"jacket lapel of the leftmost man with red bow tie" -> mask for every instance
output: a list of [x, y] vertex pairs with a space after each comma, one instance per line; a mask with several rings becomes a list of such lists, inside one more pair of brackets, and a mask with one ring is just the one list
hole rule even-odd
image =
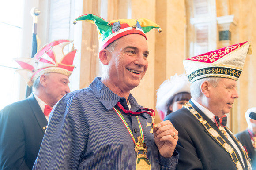
[[45, 133], [46, 126], [48, 124], [47, 119], [45, 118], [44, 113], [42, 112], [40, 106], [38, 105], [37, 100], [34, 98], [33, 93], [27, 98], [31, 109], [33, 110], [34, 116], [37, 120], [38, 126]]

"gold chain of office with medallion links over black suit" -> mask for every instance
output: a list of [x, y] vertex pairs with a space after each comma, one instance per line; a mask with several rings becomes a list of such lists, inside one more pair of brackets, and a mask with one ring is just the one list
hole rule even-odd
[[[237, 158], [236, 152], [234, 152], [233, 148], [221, 137], [221, 135], [218, 134], [218, 132], [214, 130], [211, 127], [211, 125], [207, 123], [206, 120], [203, 119], [203, 117], [199, 114], [199, 112], [197, 112], [196, 109], [194, 109], [194, 107], [189, 102], [184, 105], [184, 108], [188, 109], [196, 117], [196, 119], [203, 124], [204, 128], [208, 131], [208, 133], [211, 134], [211, 136], [214, 137], [216, 141], [218, 141], [218, 143], [226, 150], [226, 152], [229, 153], [231, 159], [233, 160], [233, 163], [237, 167], [237, 170], [243, 170], [243, 167], [241, 166], [241, 163]], [[234, 135], [233, 135], [233, 138], [237, 141], [237, 143], [239, 144], [239, 147], [241, 147], [241, 143], [237, 140], [237, 138]], [[241, 150], [243, 151], [243, 154], [246, 158], [248, 170], [252, 170], [250, 159], [248, 157], [247, 152], [245, 152], [243, 148], [241, 148]], [[234, 157], [236, 160], [234, 159]]]

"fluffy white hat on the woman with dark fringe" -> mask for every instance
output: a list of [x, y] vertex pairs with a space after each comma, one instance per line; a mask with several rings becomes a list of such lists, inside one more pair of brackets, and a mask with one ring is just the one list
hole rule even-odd
[[156, 109], [162, 120], [167, 114], [167, 102], [169, 99], [181, 92], [190, 93], [190, 85], [191, 83], [188, 81], [186, 74], [175, 74], [160, 85], [157, 90]]

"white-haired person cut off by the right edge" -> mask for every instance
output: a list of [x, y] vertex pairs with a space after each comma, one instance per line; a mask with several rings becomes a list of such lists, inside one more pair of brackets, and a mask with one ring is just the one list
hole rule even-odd
[[256, 120], [250, 118], [250, 113], [256, 117], [256, 107], [250, 108], [245, 112], [245, 119], [248, 124], [248, 128], [242, 132], [235, 134], [237, 139], [246, 148], [248, 156], [252, 159], [252, 165], [256, 167]]

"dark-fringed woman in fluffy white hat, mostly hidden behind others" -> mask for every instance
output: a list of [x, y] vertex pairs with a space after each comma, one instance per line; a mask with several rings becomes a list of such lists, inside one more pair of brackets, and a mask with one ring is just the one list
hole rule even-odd
[[156, 109], [161, 120], [181, 109], [190, 100], [190, 84], [186, 74], [175, 74], [160, 85], [157, 90]]

